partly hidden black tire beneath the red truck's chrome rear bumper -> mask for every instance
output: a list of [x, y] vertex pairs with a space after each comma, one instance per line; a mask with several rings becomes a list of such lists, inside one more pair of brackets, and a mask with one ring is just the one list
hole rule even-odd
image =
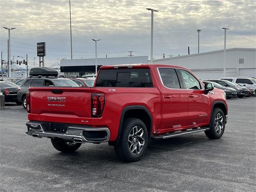
[[[76, 151], [82, 143], [73, 143], [70, 141], [63, 140], [61, 138], [51, 138], [52, 145], [54, 148], [63, 153], [72, 153]], [[72, 143], [72, 144], [68, 144]]]

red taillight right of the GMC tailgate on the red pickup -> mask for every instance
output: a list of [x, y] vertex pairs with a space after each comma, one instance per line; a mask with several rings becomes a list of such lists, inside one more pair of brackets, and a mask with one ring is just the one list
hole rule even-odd
[[92, 93], [92, 117], [100, 117], [105, 104], [105, 96], [102, 93]]

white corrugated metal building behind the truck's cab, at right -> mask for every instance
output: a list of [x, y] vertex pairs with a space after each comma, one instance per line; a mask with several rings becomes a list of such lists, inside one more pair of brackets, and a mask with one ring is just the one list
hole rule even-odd
[[[156, 59], [153, 63], [184, 66], [202, 80], [224, 77], [224, 50]], [[226, 77], [256, 77], [256, 49], [226, 49]]]

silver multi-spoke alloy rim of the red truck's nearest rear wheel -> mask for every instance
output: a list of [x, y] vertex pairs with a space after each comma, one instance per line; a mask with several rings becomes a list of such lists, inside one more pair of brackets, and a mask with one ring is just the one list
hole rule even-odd
[[134, 155], [140, 154], [144, 144], [144, 131], [141, 127], [135, 126], [134, 128], [132, 128], [128, 136], [128, 147], [130, 152]]

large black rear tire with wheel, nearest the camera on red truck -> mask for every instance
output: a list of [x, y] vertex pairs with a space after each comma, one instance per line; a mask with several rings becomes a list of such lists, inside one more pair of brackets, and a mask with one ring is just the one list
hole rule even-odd
[[[136, 136], [136, 134], [133, 134], [133, 136], [129, 137], [129, 135], [132, 135], [130, 134], [130, 132], [132, 133], [133, 130], [136, 130], [136, 126], [137, 126], [137, 129], [139, 130], [137, 133], [141, 134], [143, 131], [142, 137], [138, 135]], [[134, 141], [135, 144], [132, 144], [132, 142], [128, 142], [128, 139]], [[141, 151], [139, 146], [140, 144], [143, 144]], [[148, 146], [148, 131], [144, 122], [137, 118], [125, 119], [122, 126], [122, 134], [121, 134], [120, 142], [114, 146], [115, 152], [118, 158], [126, 162], [138, 161], [145, 154], [147, 146]], [[133, 149], [135, 149], [136, 152], [135, 151], [131, 152]]]

